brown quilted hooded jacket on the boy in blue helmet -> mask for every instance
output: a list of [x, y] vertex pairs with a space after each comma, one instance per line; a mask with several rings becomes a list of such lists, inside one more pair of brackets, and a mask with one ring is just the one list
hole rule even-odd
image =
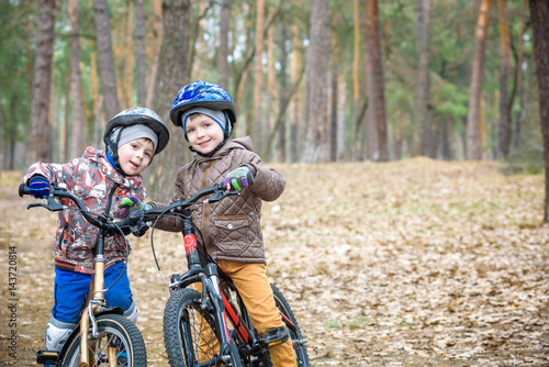
[[[229, 171], [244, 165], [254, 174], [255, 184], [244, 189], [240, 196], [193, 207], [192, 220], [202, 231], [213, 258], [266, 264], [260, 225], [261, 200], [273, 201], [280, 197], [285, 180], [276, 169], [261, 164], [249, 137], [228, 141], [212, 157], [194, 155], [194, 159], [177, 175], [173, 201], [190, 198], [201, 189], [223, 182]], [[159, 202], [150, 204], [166, 207]], [[182, 230], [181, 221], [172, 218], [161, 219], [156, 227], [170, 232]]]

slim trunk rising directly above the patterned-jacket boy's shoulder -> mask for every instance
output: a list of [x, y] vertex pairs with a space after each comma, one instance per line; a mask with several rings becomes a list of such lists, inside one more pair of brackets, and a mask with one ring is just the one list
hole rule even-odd
[[78, 25], [78, 0], [69, 1], [70, 19], [70, 94], [72, 116], [70, 134], [70, 156], [78, 156], [83, 149], [83, 101], [82, 75], [80, 73], [80, 29]]

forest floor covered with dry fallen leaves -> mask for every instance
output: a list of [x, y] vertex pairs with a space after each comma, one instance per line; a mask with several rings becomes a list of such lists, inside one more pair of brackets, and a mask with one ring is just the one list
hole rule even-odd
[[[312, 366], [549, 366], [541, 175], [425, 158], [272, 166], [288, 185], [262, 209], [268, 273], [309, 340]], [[35, 364], [53, 303], [57, 215], [25, 209], [20, 177], [0, 177], [2, 366]], [[180, 235], [154, 238], [163, 274], [183, 271]], [[150, 231], [131, 238], [128, 273], [148, 365], [161, 367], [168, 289], [149, 241]]]

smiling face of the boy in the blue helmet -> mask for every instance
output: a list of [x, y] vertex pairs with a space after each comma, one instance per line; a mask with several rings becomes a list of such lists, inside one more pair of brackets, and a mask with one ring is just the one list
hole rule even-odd
[[223, 143], [223, 129], [205, 114], [191, 114], [186, 124], [187, 137], [194, 151], [209, 154]]

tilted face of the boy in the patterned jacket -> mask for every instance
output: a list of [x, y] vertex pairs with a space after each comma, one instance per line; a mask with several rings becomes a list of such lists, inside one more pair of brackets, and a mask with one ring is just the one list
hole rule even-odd
[[127, 176], [139, 175], [148, 167], [155, 145], [146, 137], [139, 137], [119, 147], [119, 164]]

